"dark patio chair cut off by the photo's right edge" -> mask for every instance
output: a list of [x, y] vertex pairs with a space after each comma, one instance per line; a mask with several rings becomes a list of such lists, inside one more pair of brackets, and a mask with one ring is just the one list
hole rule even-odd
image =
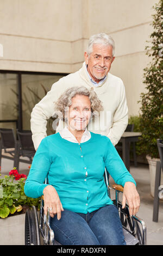
[[[163, 141], [157, 139], [160, 161], [156, 162], [154, 202], [153, 202], [153, 221], [158, 222], [159, 217], [159, 199], [161, 193], [161, 169], [163, 172]], [[163, 185], [163, 184], [162, 184]], [[163, 187], [162, 187], [163, 188]], [[163, 191], [162, 191], [163, 192]]]

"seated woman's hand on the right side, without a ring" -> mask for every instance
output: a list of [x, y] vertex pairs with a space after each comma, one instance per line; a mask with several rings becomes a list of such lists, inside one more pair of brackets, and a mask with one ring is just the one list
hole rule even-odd
[[137, 193], [135, 184], [130, 181], [124, 184], [122, 209], [126, 205], [126, 200], [128, 202], [130, 216], [136, 215], [140, 207], [140, 197], [139, 194]]

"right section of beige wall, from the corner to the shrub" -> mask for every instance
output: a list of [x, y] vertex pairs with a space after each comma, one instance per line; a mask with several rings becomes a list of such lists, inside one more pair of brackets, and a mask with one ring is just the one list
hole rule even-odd
[[[121, 77], [126, 87], [129, 115], [139, 114], [140, 93], [145, 91], [143, 69], [149, 59], [146, 40], [152, 33], [152, 6], [156, 0], [85, 0], [85, 45], [89, 36], [98, 32], [115, 40], [115, 60], [111, 74]], [[79, 65], [78, 65], [79, 66]]]

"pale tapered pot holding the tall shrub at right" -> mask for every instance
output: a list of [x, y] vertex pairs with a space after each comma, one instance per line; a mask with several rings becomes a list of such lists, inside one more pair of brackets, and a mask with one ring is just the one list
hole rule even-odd
[[[147, 158], [147, 161], [149, 164], [151, 195], [152, 195], [152, 197], [154, 197], [156, 162], [160, 161], [160, 159], [151, 158], [151, 156], [146, 156], [146, 158]], [[161, 184], [163, 184], [162, 172], [161, 172]]]

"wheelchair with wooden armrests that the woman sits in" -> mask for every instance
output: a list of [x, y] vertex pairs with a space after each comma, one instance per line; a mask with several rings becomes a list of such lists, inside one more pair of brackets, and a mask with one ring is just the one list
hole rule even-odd
[[[109, 174], [104, 174], [106, 189], [110, 197], [110, 190], [115, 191], [115, 199], [112, 199], [116, 205], [123, 228], [126, 245], [147, 245], [147, 228], [145, 221], [137, 216], [129, 215], [129, 207], [126, 204], [122, 209], [120, 193], [123, 193], [121, 185], [109, 185]], [[46, 183], [46, 181], [45, 181]], [[49, 211], [47, 215], [43, 211], [43, 196], [40, 203], [40, 214], [37, 213], [35, 206], [26, 211], [25, 217], [25, 245], [61, 245], [55, 240], [55, 233], [50, 227]]]

